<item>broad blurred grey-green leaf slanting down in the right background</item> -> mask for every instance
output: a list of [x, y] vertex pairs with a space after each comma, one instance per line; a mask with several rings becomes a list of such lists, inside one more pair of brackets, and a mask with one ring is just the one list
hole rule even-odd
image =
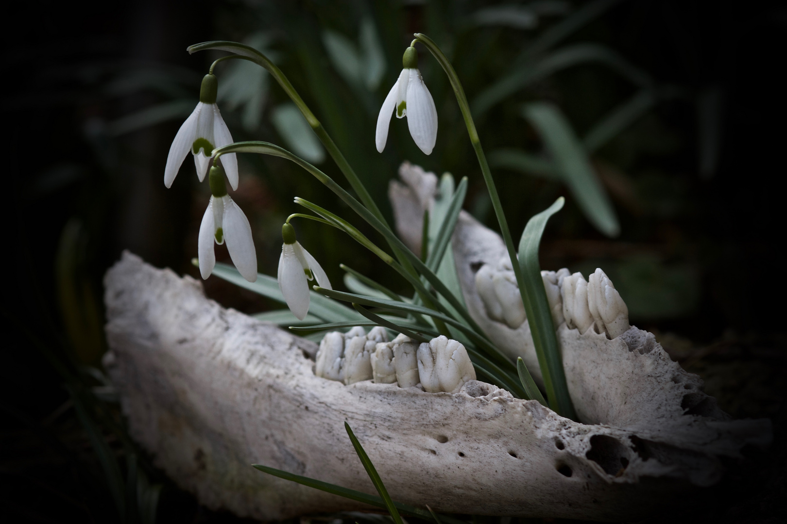
[[590, 223], [607, 236], [617, 236], [620, 225], [609, 196], [560, 109], [548, 102], [534, 102], [524, 107], [523, 114], [541, 134], [563, 181]]

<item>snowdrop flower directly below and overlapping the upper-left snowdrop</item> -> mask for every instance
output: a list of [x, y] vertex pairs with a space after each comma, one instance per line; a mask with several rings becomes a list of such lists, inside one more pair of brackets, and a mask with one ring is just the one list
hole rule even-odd
[[[224, 161], [224, 156], [221, 160]], [[208, 180], [212, 196], [199, 226], [199, 272], [203, 279], [210, 277], [216, 265], [213, 242], [224, 244], [226, 240], [227, 251], [230, 251], [230, 258], [238, 268], [238, 273], [253, 282], [257, 280], [257, 252], [254, 251], [249, 219], [227, 195], [224, 170], [220, 166], [213, 164]]]

